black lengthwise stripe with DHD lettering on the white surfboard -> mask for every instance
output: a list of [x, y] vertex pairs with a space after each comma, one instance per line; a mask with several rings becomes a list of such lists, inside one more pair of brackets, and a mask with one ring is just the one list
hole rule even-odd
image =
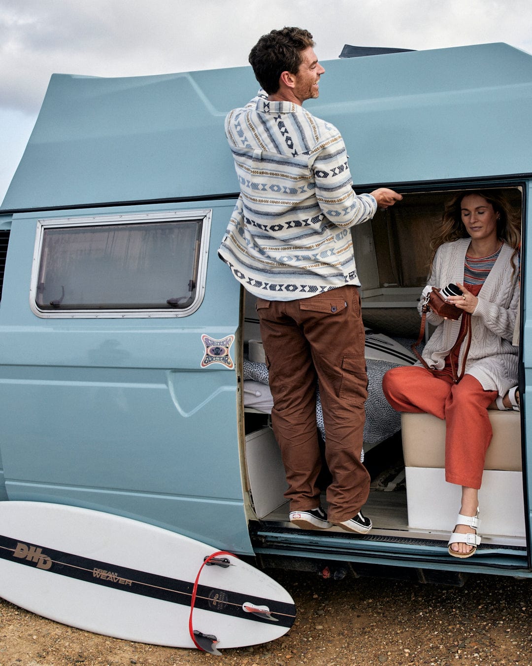
[[[208, 553], [206, 553], [208, 554]], [[168, 576], [129, 569], [109, 562], [102, 562], [82, 555], [65, 553], [49, 547], [29, 543], [0, 535], [0, 559], [41, 569], [43, 573], [57, 573], [68, 578], [111, 587], [124, 592], [170, 601], [190, 607], [194, 583]], [[198, 562], [198, 571], [203, 560]], [[223, 569], [227, 571], [227, 569]], [[201, 580], [201, 577], [200, 577]], [[0, 595], [2, 593], [0, 584]], [[275, 624], [291, 627], [295, 620], [295, 606], [275, 599], [265, 599], [252, 594], [233, 592], [221, 587], [198, 585], [194, 608], [233, 615], [243, 619], [268, 623], [271, 620], [259, 613], [247, 613], [243, 603], [248, 601], [256, 606], [267, 606], [270, 615], [275, 617]], [[16, 603], [16, 602], [15, 602]]]

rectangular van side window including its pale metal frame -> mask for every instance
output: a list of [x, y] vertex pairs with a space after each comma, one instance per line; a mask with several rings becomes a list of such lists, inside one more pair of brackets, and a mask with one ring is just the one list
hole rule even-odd
[[39, 222], [36, 314], [185, 316], [199, 307], [210, 211], [124, 217]]

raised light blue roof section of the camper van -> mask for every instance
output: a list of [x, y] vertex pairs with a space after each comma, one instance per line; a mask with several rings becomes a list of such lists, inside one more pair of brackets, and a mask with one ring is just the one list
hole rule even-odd
[[[305, 106], [340, 129], [356, 185], [532, 172], [532, 55], [485, 44], [323, 65]], [[223, 119], [257, 87], [250, 67], [53, 75], [1, 210], [232, 196]]]

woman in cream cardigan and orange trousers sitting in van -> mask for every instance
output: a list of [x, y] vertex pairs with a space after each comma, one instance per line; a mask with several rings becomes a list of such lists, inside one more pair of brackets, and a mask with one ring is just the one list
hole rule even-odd
[[[448, 544], [450, 555], [470, 557], [480, 543], [478, 489], [491, 441], [487, 414], [497, 396], [517, 384], [517, 347], [512, 345], [519, 302], [519, 221], [496, 190], [462, 192], [446, 206], [432, 240], [428, 286], [458, 285], [446, 299], [462, 311], [458, 320], [428, 310], [436, 326], [420, 362], [393, 368], [382, 388], [398, 412], [428, 412], [446, 421], [446, 481], [462, 486], [462, 506]], [[471, 315], [471, 343], [450, 353]], [[467, 340], [467, 338], [466, 338]], [[467, 356], [466, 356], [467, 355]], [[456, 382], [454, 368], [464, 375]], [[460, 376], [460, 375], [459, 375]], [[501, 408], [505, 408], [502, 406]]]

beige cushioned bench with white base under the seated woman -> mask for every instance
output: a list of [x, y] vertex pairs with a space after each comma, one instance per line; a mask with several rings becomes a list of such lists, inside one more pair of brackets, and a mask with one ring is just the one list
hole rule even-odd
[[[493, 438], [479, 490], [479, 533], [521, 537], [525, 517], [520, 414], [488, 413]], [[401, 422], [408, 525], [450, 531], [460, 509], [461, 488], [445, 481], [445, 422], [431, 414], [402, 414]]]

